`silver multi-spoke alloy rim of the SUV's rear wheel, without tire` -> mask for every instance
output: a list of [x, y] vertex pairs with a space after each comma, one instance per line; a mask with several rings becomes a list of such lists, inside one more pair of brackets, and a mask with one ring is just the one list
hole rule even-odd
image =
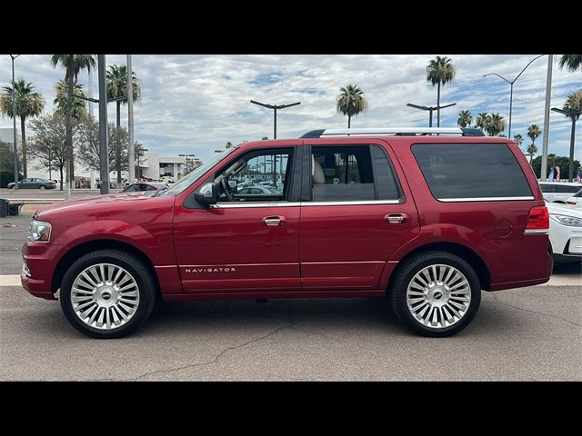
[[417, 322], [444, 329], [459, 322], [471, 304], [467, 277], [450, 265], [435, 264], [416, 272], [406, 288], [406, 305]]

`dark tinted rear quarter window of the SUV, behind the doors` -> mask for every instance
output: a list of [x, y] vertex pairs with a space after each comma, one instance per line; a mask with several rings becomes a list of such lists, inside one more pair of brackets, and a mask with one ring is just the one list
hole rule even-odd
[[412, 152], [439, 200], [532, 196], [507, 144], [414, 144]]

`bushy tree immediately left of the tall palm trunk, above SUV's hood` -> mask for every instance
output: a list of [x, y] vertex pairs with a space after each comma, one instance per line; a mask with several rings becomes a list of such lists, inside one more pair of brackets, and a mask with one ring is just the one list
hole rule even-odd
[[[31, 144], [31, 151], [38, 158], [37, 169], [58, 170], [61, 175], [61, 191], [63, 191], [63, 172], [66, 165], [65, 147], [65, 116], [55, 112], [47, 114], [30, 124], [35, 133]], [[49, 175], [50, 177], [50, 175]]]

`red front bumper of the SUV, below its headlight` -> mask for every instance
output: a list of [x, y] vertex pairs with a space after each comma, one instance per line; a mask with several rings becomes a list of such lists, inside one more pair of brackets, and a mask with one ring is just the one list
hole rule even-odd
[[53, 276], [65, 252], [64, 245], [25, 242], [22, 247], [23, 271], [20, 273], [22, 287], [35, 297], [55, 300]]

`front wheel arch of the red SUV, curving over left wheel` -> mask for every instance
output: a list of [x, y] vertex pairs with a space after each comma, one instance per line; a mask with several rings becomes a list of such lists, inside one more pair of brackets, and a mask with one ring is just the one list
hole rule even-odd
[[63, 278], [65, 277], [66, 270], [71, 266], [72, 263], [75, 262], [76, 259], [79, 259], [81, 256], [84, 256], [87, 253], [107, 248], [131, 253], [137, 259], [146, 264], [146, 266], [150, 268], [153, 273], [153, 277], [156, 282], [156, 292], [159, 294], [160, 283], [154, 268], [154, 263], [152, 263], [150, 258], [147, 257], [146, 253], [142, 252], [138, 248], [135, 248], [135, 246], [131, 245], [130, 243], [124, 243], [119, 240], [111, 239], [97, 239], [87, 241], [85, 243], [80, 243], [67, 251], [56, 264], [55, 273], [53, 274], [51, 292], [55, 294], [55, 292], [58, 291], [58, 289], [61, 287], [61, 283], [63, 282]]

